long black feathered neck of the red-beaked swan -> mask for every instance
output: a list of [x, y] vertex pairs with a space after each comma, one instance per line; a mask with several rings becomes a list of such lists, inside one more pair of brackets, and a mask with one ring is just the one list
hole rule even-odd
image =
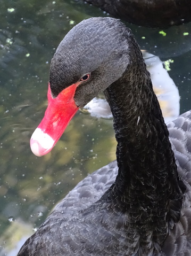
[[126, 72], [104, 92], [113, 113], [119, 167], [115, 184], [104, 198], [127, 213], [132, 231], [151, 231], [161, 245], [169, 226], [179, 220], [184, 185], [150, 74], [135, 48], [130, 49]]

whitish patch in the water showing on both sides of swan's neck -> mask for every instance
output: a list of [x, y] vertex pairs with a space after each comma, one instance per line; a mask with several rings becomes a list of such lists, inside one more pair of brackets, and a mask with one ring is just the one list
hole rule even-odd
[[[142, 51], [148, 71], [151, 74], [154, 92], [159, 100], [165, 122], [169, 122], [180, 114], [180, 96], [178, 88], [164, 68], [159, 57]], [[112, 118], [109, 104], [103, 98], [94, 98], [85, 107], [92, 117]]]

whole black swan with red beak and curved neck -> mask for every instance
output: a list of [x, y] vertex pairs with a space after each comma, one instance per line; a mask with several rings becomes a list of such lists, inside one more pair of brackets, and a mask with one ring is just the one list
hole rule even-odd
[[101, 91], [114, 117], [117, 162], [82, 180], [18, 255], [190, 256], [191, 113], [167, 129], [139, 46], [119, 20], [84, 20], [60, 43], [32, 151], [49, 152]]

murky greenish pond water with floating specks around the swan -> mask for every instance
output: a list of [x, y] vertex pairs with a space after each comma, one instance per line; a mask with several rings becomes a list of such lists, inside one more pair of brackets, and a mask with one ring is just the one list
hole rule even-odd
[[[46, 108], [55, 48], [74, 24], [107, 14], [80, 1], [0, 2], [0, 255], [15, 255], [57, 201], [115, 159], [116, 144], [112, 120], [78, 112], [47, 156], [37, 158], [29, 147]], [[189, 110], [191, 24], [165, 29], [166, 36], [161, 29], [127, 26], [142, 49], [173, 59], [169, 74], [179, 88], [180, 112]]]

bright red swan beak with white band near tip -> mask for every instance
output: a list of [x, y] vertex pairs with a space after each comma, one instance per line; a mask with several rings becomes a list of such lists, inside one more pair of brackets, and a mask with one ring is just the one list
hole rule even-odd
[[43, 120], [30, 139], [30, 148], [37, 157], [44, 156], [52, 150], [74, 114], [79, 110], [73, 98], [78, 85], [79, 82], [72, 84], [53, 98], [48, 84], [48, 106]]

